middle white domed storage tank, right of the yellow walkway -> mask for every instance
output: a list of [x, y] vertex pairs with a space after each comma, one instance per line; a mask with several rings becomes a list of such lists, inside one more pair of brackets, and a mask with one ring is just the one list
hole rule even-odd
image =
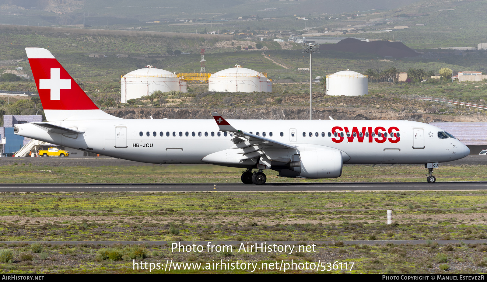
[[235, 65], [208, 77], [208, 91], [269, 92], [267, 80], [266, 74]]

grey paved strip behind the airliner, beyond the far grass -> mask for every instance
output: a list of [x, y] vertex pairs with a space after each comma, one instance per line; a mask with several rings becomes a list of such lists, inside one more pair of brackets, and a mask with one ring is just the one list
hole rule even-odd
[[[1, 157], [0, 166], [13, 165], [14, 163], [32, 164], [33, 166], [55, 166], [55, 167], [101, 167], [101, 166], [158, 166], [158, 164], [146, 164], [111, 157]], [[461, 160], [456, 160], [448, 163], [441, 163], [442, 165], [486, 165], [487, 155], [469, 155]], [[198, 165], [180, 165], [180, 166], [198, 166]], [[345, 166], [347, 166], [345, 164]], [[390, 165], [378, 165], [390, 166]], [[405, 166], [405, 165], [402, 165]], [[419, 165], [411, 165], [419, 166]]]

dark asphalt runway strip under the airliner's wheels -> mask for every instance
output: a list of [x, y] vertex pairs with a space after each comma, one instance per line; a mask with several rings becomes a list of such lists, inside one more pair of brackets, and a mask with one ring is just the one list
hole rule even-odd
[[167, 184], [0, 184], [0, 192], [200, 192], [200, 191], [386, 191], [386, 190], [487, 190], [487, 182], [388, 182], [388, 183], [167, 183]]

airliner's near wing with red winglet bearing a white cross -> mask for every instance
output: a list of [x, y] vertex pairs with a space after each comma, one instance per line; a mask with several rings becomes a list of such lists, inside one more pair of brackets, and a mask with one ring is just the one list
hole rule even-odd
[[236, 135], [235, 138], [231, 139], [233, 144], [235, 144], [231, 149], [244, 149], [249, 147], [257, 147], [255, 148], [257, 150], [297, 149], [293, 145], [272, 140], [270, 138], [266, 138], [260, 135], [237, 130], [233, 126], [231, 126], [220, 114], [216, 112], [212, 112], [211, 115], [213, 115], [213, 118], [220, 128], [220, 131]]

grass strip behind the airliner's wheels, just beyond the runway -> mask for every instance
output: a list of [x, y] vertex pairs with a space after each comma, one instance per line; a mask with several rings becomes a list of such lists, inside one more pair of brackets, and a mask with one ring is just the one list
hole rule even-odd
[[[213, 165], [153, 165], [141, 167], [47, 167], [19, 163], [0, 166], [2, 183], [240, 183], [243, 169]], [[278, 177], [266, 170], [267, 182], [423, 182], [427, 170], [421, 165], [346, 165], [342, 176], [331, 179]], [[445, 165], [435, 170], [438, 181], [485, 181], [485, 166]]]

